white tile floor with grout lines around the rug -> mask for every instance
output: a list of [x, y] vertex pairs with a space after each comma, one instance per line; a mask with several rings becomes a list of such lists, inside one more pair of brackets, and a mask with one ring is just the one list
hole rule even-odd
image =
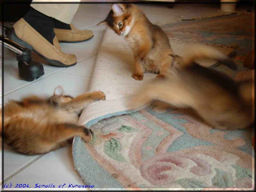
[[[153, 23], [164, 23], [181, 16], [186, 18], [194, 17], [197, 14], [202, 16], [202, 14], [213, 13], [220, 8], [220, 5], [214, 4], [176, 4], [173, 9], [167, 8], [164, 4], [140, 4], [139, 6]], [[4, 103], [8, 99], [19, 99], [30, 93], [51, 95], [58, 85], [61, 85], [67, 93], [73, 96], [86, 92], [105, 29], [105, 26], [96, 26], [96, 24], [105, 19], [110, 7], [111, 4], [80, 4], [72, 23], [77, 28], [92, 30], [94, 37], [82, 43], [61, 43], [63, 52], [76, 54], [77, 64], [73, 67], [50, 66], [44, 59], [33, 54], [34, 60], [44, 64], [45, 74], [33, 82], [26, 82], [18, 76], [15, 54], [4, 48]], [[200, 13], [202, 8], [204, 12]], [[2, 48], [0, 51], [0, 59], [2, 59]], [[2, 68], [0, 68], [0, 72], [2, 74]], [[2, 107], [2, 100], [0, 107]], [[36, 183], [53, 183], [55, 185], [71, 182], [84, 183], [75, 170], [71, 146], [43, 156], [20, 155], [4, 146], [5, 182], [12, 182], [12, 185], [27, 183], [31, 187]]]

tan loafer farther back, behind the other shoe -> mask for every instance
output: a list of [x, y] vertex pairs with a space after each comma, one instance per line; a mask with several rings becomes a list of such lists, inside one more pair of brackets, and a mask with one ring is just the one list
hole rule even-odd
[[74, 25], [70, 24], [70, 29], [54, 28], [54, 33], [59, 42], [77, 43], [87, 41], [93, 37], [92, 31], [79, 30]]

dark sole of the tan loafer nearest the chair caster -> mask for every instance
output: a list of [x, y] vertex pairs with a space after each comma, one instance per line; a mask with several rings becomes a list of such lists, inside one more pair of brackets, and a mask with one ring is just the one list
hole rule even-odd
[[53, 59], [49, 59], [47, 57], [45, 57], [44, 55], [41, 55], [39, 52], [37, 52], [36, 50], [34, 50], [34, 48], [26, 43], [25, 41], [21, 40], [15, 33], [15, 30], [14, 28], [12, 28], [8, 34], [7, 34], [7, 37], [9, 39], [11, 39], [12, 41], [14, 41], [15, 43], [23, 46], [23, 47], [27, 47], [30, 51], [34, 51], [37, 55], [39, 55], [40, 57], [44, 58], [45, 60], [47, 60], [50, 64], [54, 65], [54, 66], [57, 66], [57, 67], [71, 67], [71, 66], [74, 66], [76, 65], [76, 63], [74, 64], [71, 64], [71, 65], [65, 65], [63, 63], [61, 63], [60, 61], [58, 60], [53, 60]]

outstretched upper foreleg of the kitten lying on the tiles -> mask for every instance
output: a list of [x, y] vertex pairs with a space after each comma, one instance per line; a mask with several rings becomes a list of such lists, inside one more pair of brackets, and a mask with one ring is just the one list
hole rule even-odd
[[61, 108], [74, 112], [74, 111], [81, 111], [84, 109], [89, 103], [98, 100], [105, 100], [106, 95], [101, 91], [89, 92], [78, 95], [73, 100], [61, 105]]

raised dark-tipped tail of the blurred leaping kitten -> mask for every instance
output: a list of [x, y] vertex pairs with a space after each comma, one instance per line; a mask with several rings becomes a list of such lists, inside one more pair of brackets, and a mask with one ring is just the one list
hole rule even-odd
[[236, 63], [233, 60], [229, 59], [218, 49], [209, 45], [196, 44], [187, 47], [184, 52], [185, 57], [183, 58], [183, 64], [185, 66], [191, 65], [196, 59], [207, 58], [217, 60], [221, 64], [224, 64], [233, 70], [236, 70], [237, 68]]

